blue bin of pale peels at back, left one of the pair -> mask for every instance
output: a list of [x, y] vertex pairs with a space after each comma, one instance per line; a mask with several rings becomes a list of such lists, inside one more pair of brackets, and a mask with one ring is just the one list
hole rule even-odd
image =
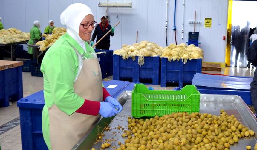
[[113, 55], [113, 79], [132, 82], [160, 84], [160, 57], [144, 57], [140, 67], [138, 57], [124, 60], [119, 55]]

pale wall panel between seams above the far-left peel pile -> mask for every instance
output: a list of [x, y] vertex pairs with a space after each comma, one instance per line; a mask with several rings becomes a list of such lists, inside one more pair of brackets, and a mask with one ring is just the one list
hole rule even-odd
[[25, 0], [2, 0], [4, 28], [17, 28], [26, 31]]

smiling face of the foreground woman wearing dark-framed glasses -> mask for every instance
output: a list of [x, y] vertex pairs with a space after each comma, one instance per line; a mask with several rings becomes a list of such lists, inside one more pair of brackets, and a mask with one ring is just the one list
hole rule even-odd
[[[89, 14], [81, 21], [81, 24], [92, 24], [94, 22], [94, 16]], [[79, 25], [79, 36], [83, 41], [90, 40], [91, 33], [94, 28], [90, 25], [89, 28], [84, 29], [83, 25]]]

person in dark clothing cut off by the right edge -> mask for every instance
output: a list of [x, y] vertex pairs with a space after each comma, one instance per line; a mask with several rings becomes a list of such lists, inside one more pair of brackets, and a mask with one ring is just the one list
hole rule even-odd
[[[252, 45], [247, 51], [247, 57], [255, 67], [257, 65], [257, 40], [253, 41]], [[254, 110], [257, 112], [257, 69], [253, 74], [253, 81], [251, 82], [251, 98], [254, 106]]]

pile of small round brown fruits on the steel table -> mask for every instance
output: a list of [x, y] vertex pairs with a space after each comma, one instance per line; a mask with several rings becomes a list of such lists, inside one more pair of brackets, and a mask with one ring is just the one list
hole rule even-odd
[[224, 110], [219, 116], [178, 112], [146, 120], [129, 117], [128, 129], [117, 150], [228, 150], [255, 134]]

